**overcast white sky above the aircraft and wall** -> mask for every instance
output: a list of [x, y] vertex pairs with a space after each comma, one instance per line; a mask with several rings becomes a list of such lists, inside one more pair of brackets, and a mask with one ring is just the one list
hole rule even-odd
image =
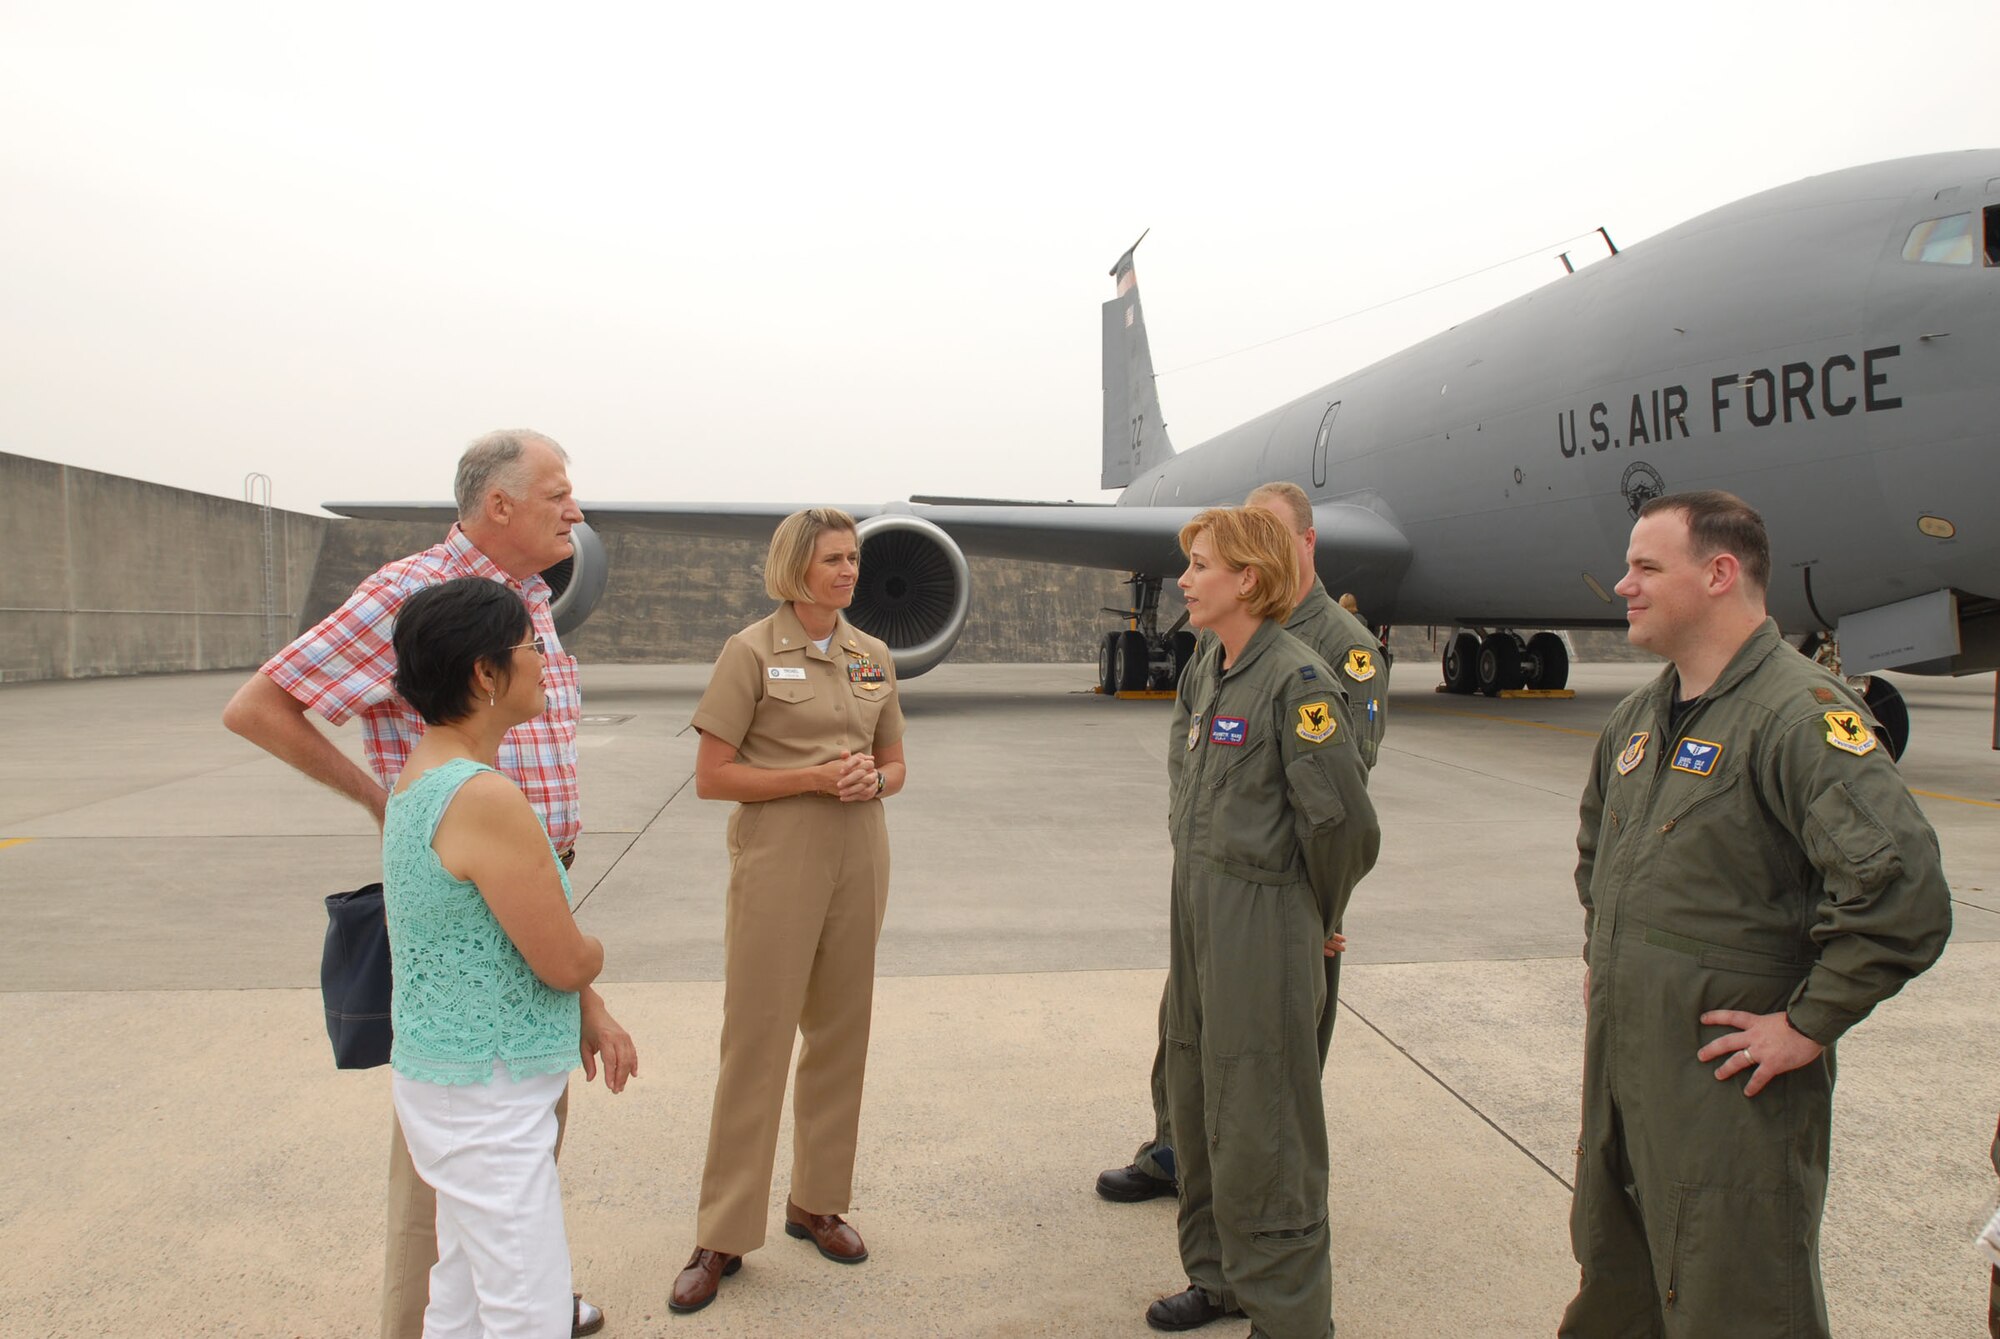
[[586, 502], [1098, 500], [1142, 230], [1188, 448], [1598, 224], [2000, 142], [1994, 52], [1994, 0], [0, 0], [0, 450], [310, 512], [532, 426]]

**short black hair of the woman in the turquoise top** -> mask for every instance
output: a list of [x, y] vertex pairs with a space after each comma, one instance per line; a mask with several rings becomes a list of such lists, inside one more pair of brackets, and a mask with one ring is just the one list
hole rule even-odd
[[428, 725], [472, 713], [472, 671], [502, 675], [528, 640], [528, 606], [500, 582], [462, 576], [426, 586], [396, 610], [396, 691]]

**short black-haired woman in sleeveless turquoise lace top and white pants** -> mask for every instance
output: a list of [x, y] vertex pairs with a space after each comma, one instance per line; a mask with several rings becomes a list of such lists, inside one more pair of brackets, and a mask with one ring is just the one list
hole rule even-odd
[[428, 729], [382, 823], [396, 1117], [438, 1193], [424, 1333], [570, 1333], [556, 1099], [604, 945], [528, 797], [494, 771], [544, 709], [542, 648], [500, 582], [462, 578], [396, 616], [396, 691]]

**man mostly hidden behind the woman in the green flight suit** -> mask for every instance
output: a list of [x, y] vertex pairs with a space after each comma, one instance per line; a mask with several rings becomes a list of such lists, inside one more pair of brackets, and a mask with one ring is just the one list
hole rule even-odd
[[[1342, 610], [1314, 568], [1318, 532], [1312, 502], [1298, 484], [1262, 484], [1250, 492], [1244, 506], [1262, 508], [1284, 524], [1292, 536], [1302, 574], [1304, 596], [1292, 610], [1284, 630], [1304, 642], [1332, 666], [1346, 689], [1354, 713], [1354, 741], [1362, 761], [1372, 769], [1380, 755], [1382, 733], [1388, 727], [1388, 660], [1368, 626]], [[1338, 927], [1336, 927], [1338, 929]], [[1326, 943], [1326, 1011], [1318, 1021], [1320, 1067], [1334, 1041], [1336, 999], [1340, 993], [1340, 941]], [[1152, 1137], [1124, 1167], [1098, 1173], [1098, 1195], [1120, 1203], [1136, 1203], [1174, 1193], [1174, 1139], [1166, 1113], [1166, 995], [1160, 997], [1160, 1045], [1152, 1055]], [[1208, 1303], [1198, 1287], [1178, 1297], [1162, 1299], [1150, 1315], [1156, 1329], [1194, 1329], [1234, 1311], [1234, 1299]]]

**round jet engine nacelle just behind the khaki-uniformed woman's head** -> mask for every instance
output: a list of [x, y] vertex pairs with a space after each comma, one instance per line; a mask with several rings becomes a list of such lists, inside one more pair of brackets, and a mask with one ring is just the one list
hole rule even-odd
[[896, 656], [896, 677], [936, 670], [966, 630], [972, 570], [952, 536], [922, 516], [870, 516], [856, 528], [862, 576], [848, 618]]

